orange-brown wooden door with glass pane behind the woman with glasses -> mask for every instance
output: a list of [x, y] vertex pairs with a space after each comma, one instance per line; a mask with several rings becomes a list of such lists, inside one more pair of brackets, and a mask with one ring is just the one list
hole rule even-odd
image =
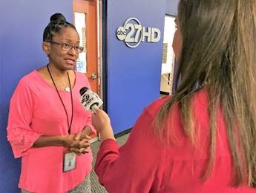
[[93, 92], [100, 96], [97, 41], [97, 1], [73, 0], [73, 23], [85, 52], [79, 54], [76, 70], [85, 73]]

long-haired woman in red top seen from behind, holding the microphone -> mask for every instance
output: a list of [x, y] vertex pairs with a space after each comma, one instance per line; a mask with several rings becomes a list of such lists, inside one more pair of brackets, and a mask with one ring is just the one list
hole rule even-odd
[[110, 193], [256, 192], [256, 1], [181, 0], [176, 23], [176, 94], [146, 107], [120, 148], [108, 115], [93, 115], [99, 182]]

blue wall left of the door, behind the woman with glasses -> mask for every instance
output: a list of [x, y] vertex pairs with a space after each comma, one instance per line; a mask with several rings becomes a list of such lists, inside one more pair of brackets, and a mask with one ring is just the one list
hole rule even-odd
[[6, 138], [10, 96], [19, 79], [47, 63], [42, 33], [53, 13], [73, 21], [71, 0], [1, 0], [0, 5], [0, 192], [19, 192], [20, 160], [13, 158]]

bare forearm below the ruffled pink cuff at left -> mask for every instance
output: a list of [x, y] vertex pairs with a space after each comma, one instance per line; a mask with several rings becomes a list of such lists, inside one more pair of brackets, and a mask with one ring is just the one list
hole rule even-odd
[[45, 146], [64, 146], [64, 137], [62, 135], [59, 136], [40, 136], [35, 143], [33, 143], [33, 147], [45, 147]]

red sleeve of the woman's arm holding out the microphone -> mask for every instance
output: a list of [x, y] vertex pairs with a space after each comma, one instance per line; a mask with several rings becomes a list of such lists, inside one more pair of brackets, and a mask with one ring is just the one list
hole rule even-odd
[[125, 143], [104, 140], [95, 172], [108, 192], [157, 192], [162, 180], [165, 149], [154, 136], [153, 118], [145, 110]]

